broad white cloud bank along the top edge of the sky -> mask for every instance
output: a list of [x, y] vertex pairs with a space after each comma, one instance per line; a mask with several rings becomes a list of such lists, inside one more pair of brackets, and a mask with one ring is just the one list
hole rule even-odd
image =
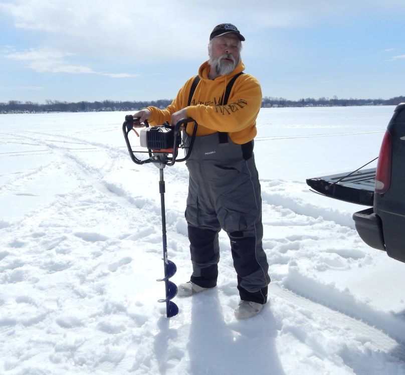
[[[395, 8], [394, 8], [395, 7]], [[299, 28], [335, 21], [355, 12], [405, 9], [403, 0], [15, 0], [1, 3], [15, 26], [35, 30], [46, 45], [83, 56], [143, 60], [201, 60], [208, 36], [222, 22], [244, 34], [268, 28]], [[46, 36], [46, 39], [45, 39]]]

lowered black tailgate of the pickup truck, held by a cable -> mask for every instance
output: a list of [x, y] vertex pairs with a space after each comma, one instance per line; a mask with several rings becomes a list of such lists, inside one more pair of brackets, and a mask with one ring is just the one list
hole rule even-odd
[[375, 168], [358, 170], [347, 176], [349, 173], [308, 178], [307, 184], [324, 196], [357, 205], [372, 206]]

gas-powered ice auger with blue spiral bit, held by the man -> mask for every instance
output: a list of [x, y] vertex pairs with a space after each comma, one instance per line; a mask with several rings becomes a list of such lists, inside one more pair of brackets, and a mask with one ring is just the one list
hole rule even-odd
[[[187, 135], [185, 132], [185, 127], [187, 126], [188, 122], [194, 123], [191, 135]], [[165, 186], [163, 179], [163, 168], [166, 165], [173, 165], [175, 161], [187, 160], [194, 142], [197, 123], [191, 118], [183, 118], [179, 120], [175, 126], [170, 126], [166, 123], [162, 126], [149, 127], [147, 121], [144, 121], [146, 128], [142, 128], [140, 131], [140, 146], [147, 147], [147, 151], [134, 151], [132, 149], [128, 134], [131, 130], [133, 130], [136, 135], [138, 135], [134, 129], [134, 123], [140, 125], [139, 118], [133, 118], [132, 115], [127, 115], [125, 116], [125, 122], [122, 124], [122, 132], [124, 133], [129, 156], [136, 164], [154, 163], [159, 168], [164, 277], [162, 279], [158, 279], [157, 281], [164, 281], [166, 296], [165, 298], [159, 299], [158, 302], [166, 303], [166, 316], [169, 318], [177, 315], [178, 313], [177, 305], [171, 301], [171, 299], [173, 299], [177, 294], [177, 286], [169, 280], [176, 273], [177, 267], [167, 258], [166, 215], [164, 207]], [[181, 130], [183, 130], [183, 136], [180, 135]], [[183, 158], [176, 159], [179, 148], [187, 149], [187, 152]], [[138, 159], [135, 152], [147, 153], [149, 157], [145, 159]]]

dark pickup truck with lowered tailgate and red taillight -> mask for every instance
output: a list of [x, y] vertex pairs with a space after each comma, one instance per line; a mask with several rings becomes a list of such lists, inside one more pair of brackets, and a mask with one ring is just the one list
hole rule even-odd
[[405, 262], [405, 103], [388, 123], [376, 168], [306, 181], [327, 197], [369, 206], [353, 214], [357, 233], [367, 245]]

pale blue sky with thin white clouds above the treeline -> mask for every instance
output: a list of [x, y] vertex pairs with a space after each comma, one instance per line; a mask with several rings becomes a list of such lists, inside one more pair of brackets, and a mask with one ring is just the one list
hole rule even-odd
[[0, 102], [173, 98], [224, 22], [263, 96], [405, 95], [404, 0], [280, 3], [0, 0]]

